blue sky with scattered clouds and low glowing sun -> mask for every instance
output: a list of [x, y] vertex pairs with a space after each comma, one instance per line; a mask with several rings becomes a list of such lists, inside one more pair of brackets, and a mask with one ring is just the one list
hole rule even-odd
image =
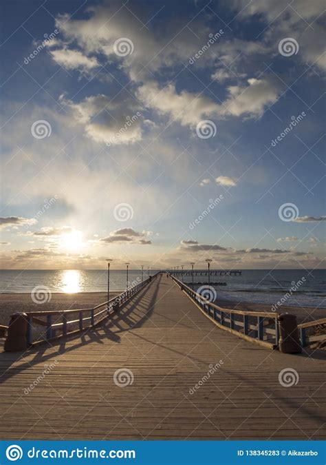
[[2, 267], [325, 267], [323, 19], [2, 2]]

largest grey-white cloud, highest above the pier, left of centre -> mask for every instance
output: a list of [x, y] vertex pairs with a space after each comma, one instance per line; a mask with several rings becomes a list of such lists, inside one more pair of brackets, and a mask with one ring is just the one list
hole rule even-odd
[[[140, 26], [144, 16], [142, 8], [134, 3], [132, 10], [122, 8], [118, 1], [105, 1], [88, 8], [87, 19], [70, 19], [68, 14], [58, 15], [56, 27], [60, 29], [66, 43], [78, 45], [86, 55], [102, 54], [109, 61], [118, 61], [133, 81], [142, 81], [151, 72], [188, 60], [189, 56], [197, 52], [201, 39], [184, 28], [182, 21], [175, 18], [164, 28], [150, 30]], [[148, 17], [143, 19], [146, 22]], [[206, 33], [208, 39], [209, 30], [202, 21], [194, 19], [192, 28], [200, 34]], [[174, 37], [173, 41], [171, 37]], [[127, 38], [133, 43], [132, 54], [116, 55], [113, 44], [121, 38]], [[169, 46], [166, 46], [167, 43]]]

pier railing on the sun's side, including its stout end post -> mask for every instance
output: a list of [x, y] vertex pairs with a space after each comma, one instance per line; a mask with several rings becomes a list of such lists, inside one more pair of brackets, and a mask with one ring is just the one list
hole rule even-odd
[[155, 273], [96, 307], [14, 313], [8, 327], [4, 349], [5, 351], [21, 351], [95, 327], [102, 320], [116, 313], [123, 304], [148, 285], [158, 274], [160, 273]]

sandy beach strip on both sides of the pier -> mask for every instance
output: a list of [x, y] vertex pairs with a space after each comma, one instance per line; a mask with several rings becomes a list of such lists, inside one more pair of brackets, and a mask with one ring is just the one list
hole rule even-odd
[[[118, 292], [110, 293], [114, 297]], [[36, 304], [32, 301], [30, 293], [3, 293], [0, 294], [0, 324], [10, 322], [10, 315], [17, 311], [50, 311], [67, 309], [85, 309], [95, 307], [107, 300], [105, 292], [84, 292], [84, 293], [52, 293], [50, 302]], [[239, 302], [215, 302], [226, 309], [237, 309], [245, 311], [272, 311], [270, 305], [257, 303]], [[296, 315], [298, 323], [325, 318], [326, 309], [313, 309], [311, 307], [288, 307], [279, 308], [279, 313], [293, 313]]]

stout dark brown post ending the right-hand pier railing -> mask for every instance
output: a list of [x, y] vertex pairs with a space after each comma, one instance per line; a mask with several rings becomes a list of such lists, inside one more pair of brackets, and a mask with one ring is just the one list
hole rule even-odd
[[298, 333], [296, 316], [290, 313], [281, 313], [279, 321], [279, 351], [283, 353], [301, 353], [302, 347]]

